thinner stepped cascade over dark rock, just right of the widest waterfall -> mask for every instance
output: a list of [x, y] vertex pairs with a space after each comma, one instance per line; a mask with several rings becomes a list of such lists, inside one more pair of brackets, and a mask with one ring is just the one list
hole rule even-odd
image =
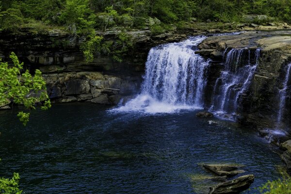
[[251, 51], [247, 48], [226, 49], [225, 68], [216, 80], [211, 111], [217, 114], [235, 114], [242, 94], [250, 87], [259, 62], [260, 50], [251, 60]]

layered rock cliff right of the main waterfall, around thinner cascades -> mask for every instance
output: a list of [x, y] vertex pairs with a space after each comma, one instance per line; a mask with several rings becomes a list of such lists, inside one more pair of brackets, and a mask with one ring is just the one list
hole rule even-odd
[[[251, 85], [248, 91], [239, 97], [237, 118], [243, 124], [275, 128], [279, 108], [278, 91], [283, 87], [286, 65], [291, 62], [290, 31], [243, 32], [239, 35], [213, 36], [202, 42], [199, 48], [198, 53], [212, 59], [206, 89], [208, 106], [211, 104], [211, 91], [224, 66], [226, 49], [246, 48], [250, 50], [251, 60], [255, 60], [256, 49], [260, 49], [258, 66]], [[290, 94], [290, 89], [288, 91], [287, 94]], [[291, 122], [290, 95], [287, 96], [286, 102], [283, 111], [285, 127]]]

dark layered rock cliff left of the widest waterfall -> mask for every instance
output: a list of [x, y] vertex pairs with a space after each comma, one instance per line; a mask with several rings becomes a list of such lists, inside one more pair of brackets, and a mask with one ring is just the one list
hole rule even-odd
[[[120, 29], [96, 32], [103, 41], [114, 41]], [[166, 42], [180, 41], [185, 34], [174, 32], [151, 35], [149, 30], [126, 32], [134, 48], [122, 63], [112, 56], [96, 53], [92, 63], [86, 63], [80, 45], [85, 37], [71, 41], [71, 35], [53, 30], [44, 34], [0, 34], [0, 58], [9, 61], [13, 51], [27, 69], [40, 69], [47, 81], [49, 97], [56, 102], [91, 101], [117, 104], [121, 98], [137, 93], [144, 73], [149, 49]], [[9, 106], [1, 105], [0, 109]]]

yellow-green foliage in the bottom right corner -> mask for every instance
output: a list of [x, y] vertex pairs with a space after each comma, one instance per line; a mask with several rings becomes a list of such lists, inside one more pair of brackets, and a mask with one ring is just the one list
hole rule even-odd
[[291, 178], [268, 181], [259, 188], [261, 194], [291, 194]]

